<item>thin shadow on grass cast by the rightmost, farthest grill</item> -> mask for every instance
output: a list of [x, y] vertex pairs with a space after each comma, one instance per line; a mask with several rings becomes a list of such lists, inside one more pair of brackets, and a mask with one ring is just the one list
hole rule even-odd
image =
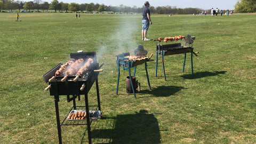
[[225, 73], [227, 73], [227, 71], [214, 71], [214, 72], [203, 71], [203, 72], [194, 73], [194, 76], [192, 76], [191, 74], [187, 74], [187, 75], [182, 75], [181, 77], [186, 79], [196, 79], [196, 78], [202, 78], [202, 77], [217, 76], [219, 74], [225, 74]]

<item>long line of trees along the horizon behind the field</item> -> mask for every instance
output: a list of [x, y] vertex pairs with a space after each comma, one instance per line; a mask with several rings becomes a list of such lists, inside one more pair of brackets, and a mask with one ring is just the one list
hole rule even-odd
[[[30, 12], [30, 10], [54, 10], [55, 12], [63, 12], [63, 11], [71, 11], [71, 12], [93, 12], [97, 11], [99, 13], [103, 11], [113, 12], [113, 13], [141, 13], [143, 7], [137, 6], [107, 6], [104, 4], [77, 4], [77, 3], [63, 3], [59, 2], [58, 0], [53, 0], [50, 4], [48, 2], [43, 2], [42, 0], [34, 0], [29, 2], [22, 2], [22, 1], [14, 1], [14, 0], [0, 0], [0, 12], [1, 10], [20, 10], [25, 9]], [[210, 13], [209, 10], [203, 10], [198, 8], [177, 8], [176, 6], [150, 6], [149, 7], [151, 13], [158, 13], [158, 14], [196, 14], [197, 12], [205, 12]], [[255, 12], [256, 11], [256, 0], [241, 0], [238, 1], [235, 5], [235, 12]], [[225, 10], [224, 10], [225, 12]]]

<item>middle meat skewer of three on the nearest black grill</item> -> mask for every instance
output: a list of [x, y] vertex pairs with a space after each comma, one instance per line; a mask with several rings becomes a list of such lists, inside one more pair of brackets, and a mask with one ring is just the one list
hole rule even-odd
[[61, 79], [61, 82], [65, 82], [68, 76], [74, 76], [79, 70], [79, 67], [83, 65], [83, 63], [84, 59], [78, 59], [74, 63], [72, 63], [72, 65], [70, 65], [70, 67], [67, 68], [68, 70], [65, 71], [66, 75]]

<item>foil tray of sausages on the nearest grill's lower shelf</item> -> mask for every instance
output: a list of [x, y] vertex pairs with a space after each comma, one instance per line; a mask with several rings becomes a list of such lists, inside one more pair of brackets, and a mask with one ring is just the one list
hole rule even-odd
[[[68, 121], [84, 121], [86, 120], [86, 111], [85, 110], [71, 110], [67, 116]], [[96, 121], [100, 118], [100, 110], [89, 110], [90, 119]]]

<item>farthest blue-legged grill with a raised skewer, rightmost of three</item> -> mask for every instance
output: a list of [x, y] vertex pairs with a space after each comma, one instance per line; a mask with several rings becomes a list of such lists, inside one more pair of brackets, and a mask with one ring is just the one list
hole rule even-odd
[[[162, 56], [162, 65], [163, 65], [163, 71], [164, 71], [164, 80], [166, 81], [166, 76], [165, 76], [165, 68], [164, 68], [164, 56], [166, 55], [173, 55], [173, 54], [185, 54], [185, 58], [184, 58], [184, 62], [183, 62], [183, 69], [182, 69], [182, 73], [184, 72], [184, 67], [185, 67], [185, 62], [186, 62], [186, 56], [188, 52], [191, 53], [191, 70], [192, 70], [192, 76], [194, 76], [194, 72], [193, 72], [193, 54], [196, 54], [196, 52], [194, 52], [194, 48], [193, 48], [193, 42], [194, 42], [195, 37], [191, 37], [190, 35], [188, 35], [185, 38], [185, 42], [186, 45], [188, 44], [188, 46], [181, 46], [181, 43], [175, 43], [175, 44], [166, 44], [166, 45], [162, 45], [159, 41], [159, 43], [156, 46], [156, 76], [157, 76], [157, 63], [158, 63], [158, 54]], [[155, 39], [157, 40], [157, 39]]]

